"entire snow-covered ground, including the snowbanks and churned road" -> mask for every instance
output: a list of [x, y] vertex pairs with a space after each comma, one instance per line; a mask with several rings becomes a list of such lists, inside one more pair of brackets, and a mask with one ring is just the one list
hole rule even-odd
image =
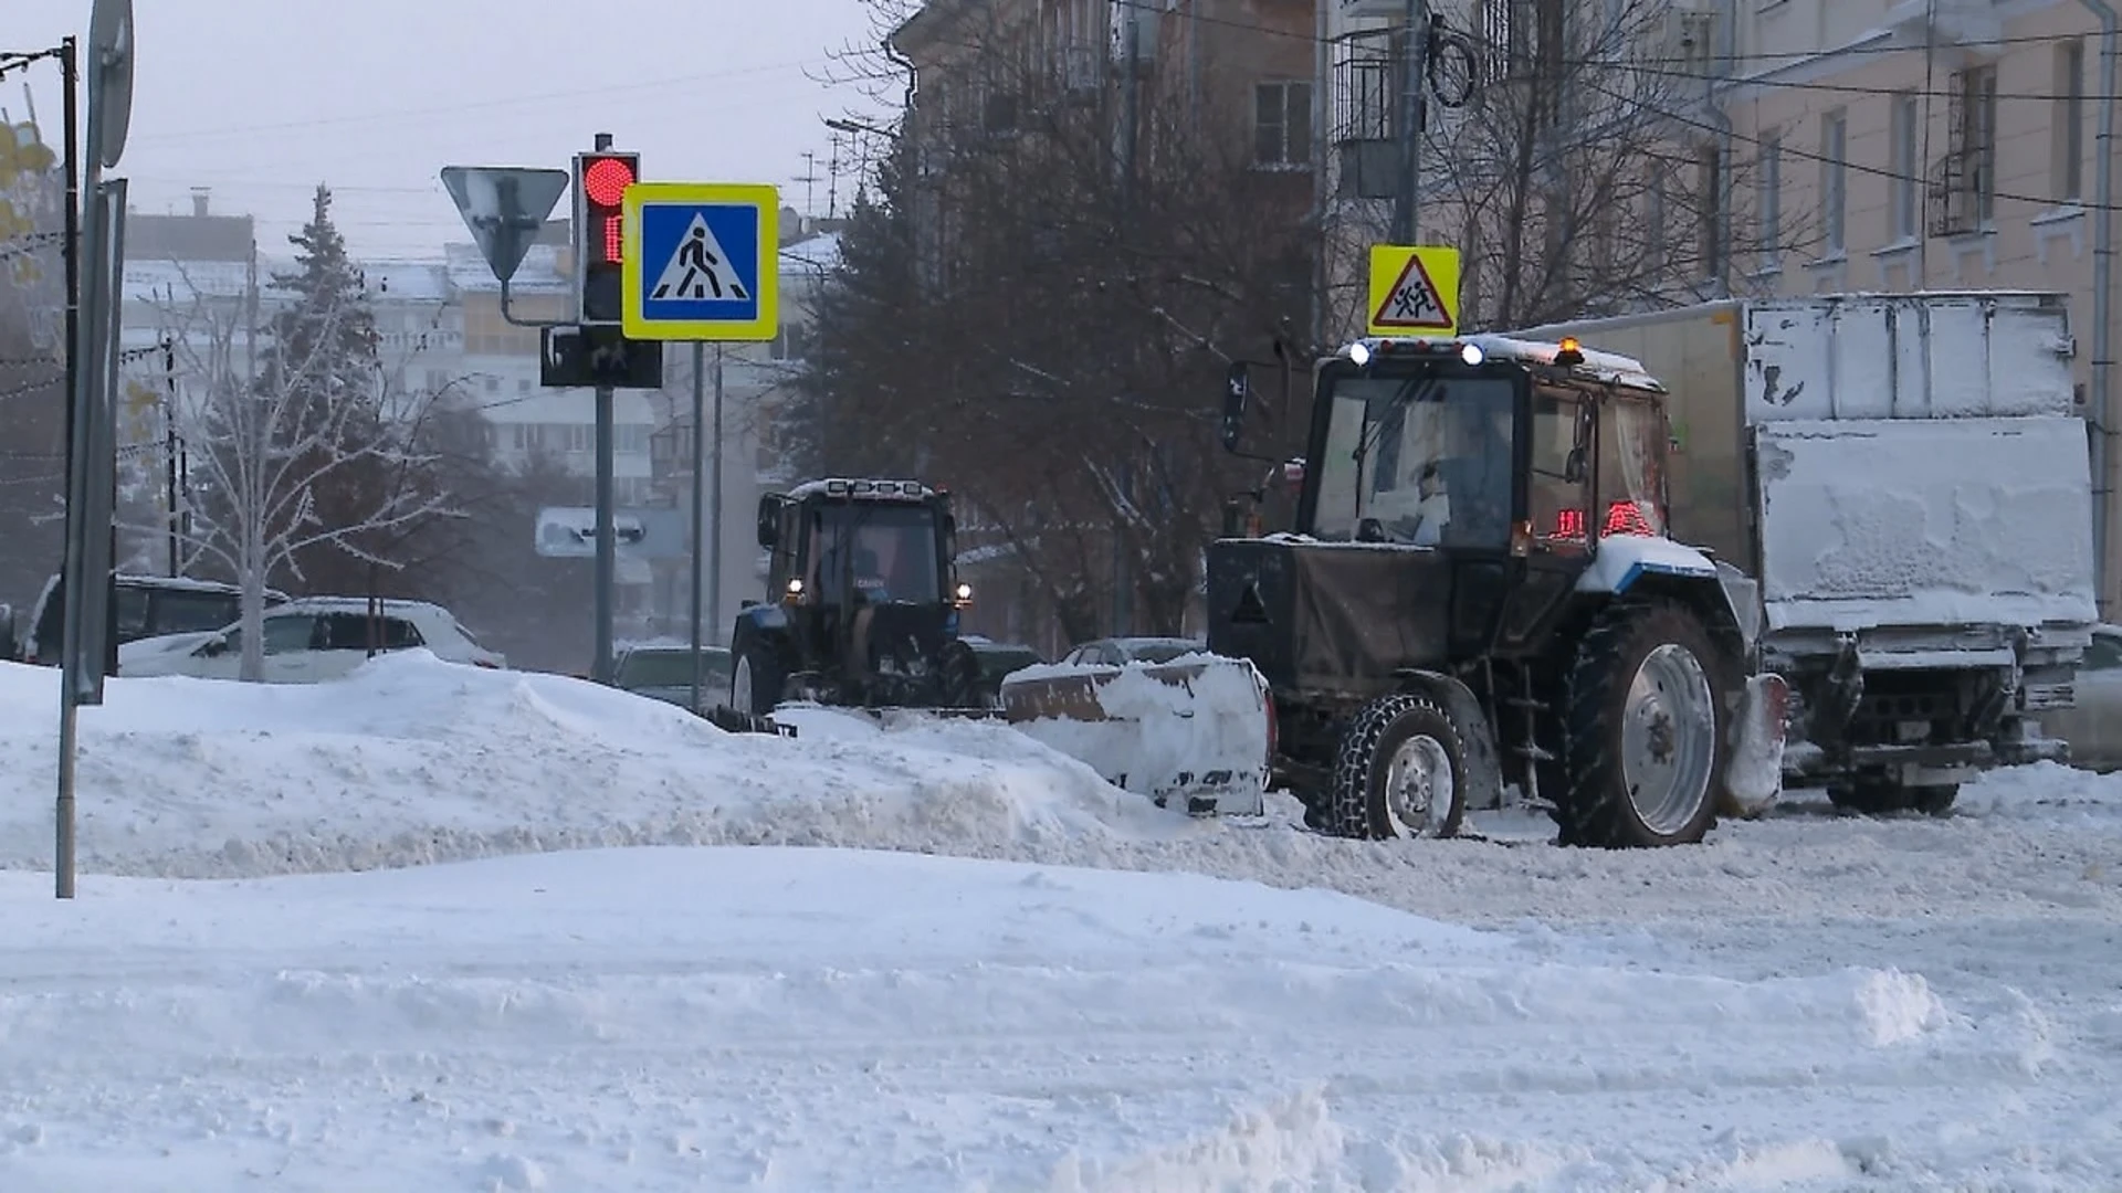
[[53, 705], [0, 664], [0, 1191], [2122, 1189], [2122, 777], [1347, 843], [403, 656], [112, 681], [57, 904]]

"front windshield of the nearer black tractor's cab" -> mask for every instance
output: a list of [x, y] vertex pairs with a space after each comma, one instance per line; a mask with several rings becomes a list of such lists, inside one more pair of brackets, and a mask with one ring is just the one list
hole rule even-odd
[[1322, 376], [1311, 535], [1509, 546], [1513, 393], [1509, 376]]

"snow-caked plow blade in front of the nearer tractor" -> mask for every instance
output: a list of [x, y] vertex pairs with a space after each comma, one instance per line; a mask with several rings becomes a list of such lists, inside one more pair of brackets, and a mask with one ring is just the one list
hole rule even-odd
[[1027, 667], [1002, 681], [1002, 715], [1156, 807], [1188, 815], [1267, 811], [1273, 705], [1243, 658]]

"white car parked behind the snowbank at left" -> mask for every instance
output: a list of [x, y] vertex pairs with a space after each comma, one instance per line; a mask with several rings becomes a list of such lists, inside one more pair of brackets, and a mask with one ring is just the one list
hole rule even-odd
[[[435, 658], [471, 667], [507, 667], [480, 645], [441, 605], [427, 601], [380, 601], [369, 618], [365, 596], [301, 596], [265, 609], [265, 681], [320, 684], [361, 667], [376, 650], [427, 647]], [[242, 622], [191, 635], [140, 639], [119, 647], [119, 675], [191, 675], [195, 679], [238, 679], [242, 671]]]

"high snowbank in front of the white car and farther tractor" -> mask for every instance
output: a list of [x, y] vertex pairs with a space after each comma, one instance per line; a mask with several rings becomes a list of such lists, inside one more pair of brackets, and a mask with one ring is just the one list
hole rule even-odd
[[[0, 866], [49, 866], [57, 671], [0, 664]], [[726, 734], [683, 709], [427, 652], [344, 681], [112, 679], [81, 713], [81, 864], [238, 877], [598, 845], [1065, 851], [1186, 822], [999, 724]]]

